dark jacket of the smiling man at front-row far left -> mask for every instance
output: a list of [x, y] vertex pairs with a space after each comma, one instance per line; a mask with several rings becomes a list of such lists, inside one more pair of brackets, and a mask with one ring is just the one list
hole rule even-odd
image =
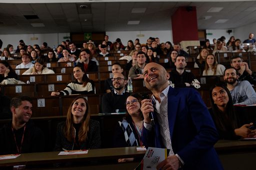
[[[21, 133], [19, 133], [20, 131]], [[42, 131], [37, 128], [30, 119], [24, 127], [19, 130], [14, 130], [17, 146], [21, 144], [22, 134], [24, 132], [24, 139], [21, 146], [21, 153], [35, 153], [44, 152], [45, 142]], [[17, 134], [21, 134], [17, 135]], [[19, 136], [19, 137], [18, 137]], [[20, 148], [20, 147], [18, 147]], [[11, 130], [11, 122], [4, 125], [0, 129], [0, 155], [17, 154], [17, 147], [14, 141], [13, 133]]]

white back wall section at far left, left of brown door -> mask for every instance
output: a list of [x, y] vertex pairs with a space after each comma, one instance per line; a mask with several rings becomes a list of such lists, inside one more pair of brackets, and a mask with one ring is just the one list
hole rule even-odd
[[[37, 40], [30, 40], [31, 37], [37, 37]], [[0, 35], [2, 40], [2, 49], [7, 46], [7, 44], [13, 45], [14, 49], [18, 45], [18, 41], [23, 39], [26, 45], [38, 44], [41, 45], [43, 42], [47, 42], [49, 47], [53, 45], [57, 46], [61, 41], [65, 41], [63, 36], [69, 36], [69, 33], [47, 33], [47, 34], [3, 34]]]

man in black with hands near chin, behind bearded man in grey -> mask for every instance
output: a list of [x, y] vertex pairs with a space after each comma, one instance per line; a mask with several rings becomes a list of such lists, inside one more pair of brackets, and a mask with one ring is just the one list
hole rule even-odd
[[[252, 71], [249, 69], [248, 63], [242, 61], [242, 57], [233, 56], [231, 58], [231, 67], [234, 67], [239, 73], [238, 81], [247, 80], [253, 84]], [[255, 80], [254, 80], [255, 81]]]

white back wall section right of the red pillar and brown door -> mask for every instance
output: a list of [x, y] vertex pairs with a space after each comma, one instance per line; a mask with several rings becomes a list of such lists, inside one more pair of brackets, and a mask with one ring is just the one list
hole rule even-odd
[[[220, 38], [221, 36], [224, 36], [226, 38], [226, 42], [229, 40], [230, 36], [234, 36], [234, 30], [231, 29], [232, 32], [228, 34], [226, 31], [227, 29], [206, 29], [207, 33], [212, 33], [212, 35], [206, 35], [206, 39], [210, 40], [210, 44], [213, 44], [212, 39], [213, 38]], [[235, 37], [236, 38], [236, 37]], [[237, 37], [238, 38], [238, 37]]]

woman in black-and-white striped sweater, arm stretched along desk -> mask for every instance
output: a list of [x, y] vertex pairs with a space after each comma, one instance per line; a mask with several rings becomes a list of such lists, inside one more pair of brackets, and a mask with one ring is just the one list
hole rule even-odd
[[75, 66], [73, 68], [75, 80], [68, 83], [66, 88], [60, 92], [51, 92], [51, 96], [71, 95], [71, 94], [94, 94], [94, 83], [89, 80], [83, 67]]

